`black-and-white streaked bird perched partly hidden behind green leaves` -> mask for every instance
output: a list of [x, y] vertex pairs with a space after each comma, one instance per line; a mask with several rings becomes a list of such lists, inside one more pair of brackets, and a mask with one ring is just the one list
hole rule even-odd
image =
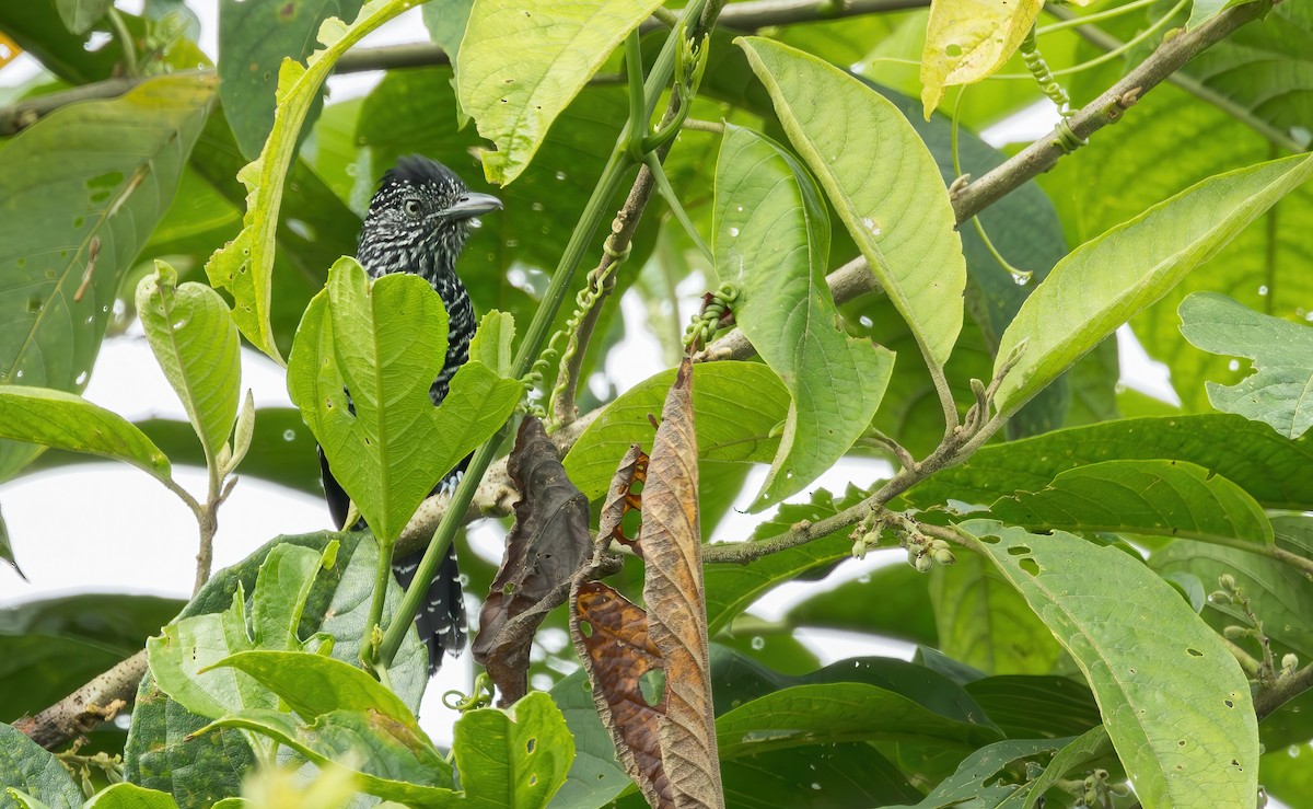
[[[383, 175], [360, 231], [356, 259], [370, 276], [414, 273], [432, 284], [442, 298], [448, 344], [442, 369], [429, 387], [435, 406], [446, 397], [452, 377], [469, 359], [475, 328], [474, 306], [456, 274], [456, 260], [469, 239], [474, 217], [500, 208], [496, 197], [471, 192], [441, 163], [411, 155], [399, 159], [397, 167]], [[461, 461], [433, 491], [454, 489], [467, 462], [469, 458]], [[319, 465], [328, 510], [341, 528], [351, 499], [334, 478], [323, 452], [319, 453]], [[410, 587], [423, 556], [418, 552], [393, 561], [393, 573], [402, 587]], [[415, 616], [415, 626], [428, 647], [429, 674], [441, 666], [444, 650], [461, 653], [465, 645], [465, 604], [454, 546], [448, 550], [429, 584], [424, 608]]]

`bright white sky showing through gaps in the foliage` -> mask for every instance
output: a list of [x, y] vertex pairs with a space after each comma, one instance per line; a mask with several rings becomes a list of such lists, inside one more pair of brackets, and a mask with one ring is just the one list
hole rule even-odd
[[[140, 0], [119, 0], [129, 12], [140, 11]], [[188, 5], [201, 18], [201, 46], [217, 55], [217, 3], [194, 0]], [[415, 42], [425, 29], [419, 9], [407, 12], [365, 38], [365, 46]], [[0, 71], [0, 88], [12, 87], [38, 72], [35, 62], [22, 55]], [[328, 80], [331, 101], [366, 93], [381, 74], [357, 74]], [[985, 131], [982, 137], [1002, 146], [1033, 141], [1053, 126], [1052, 105], [1046, 101]], [[687, 320], [700, 289], [681, 290], [680, 311]], [[620, 390], [647, 378], [663, 368], [655, 335], [646, 324], [646, 311], [633, 297], [621, 301], [626, 339], [612, 352], [607, 373]], [[1127, 330], [1119, 332], [1123, 382], [1158, 398], [1175, 401], [1166, 382], [1166, 368], [1150, 362]], [[622, 361], [618, 359], [624, 357]], [[243, 387], [255, 391], [257, 407], [286, 406], [281, 369], [253, 351], [243, 352]], [[185, 412], [151, 356], [139, 327], [127, 335], [106, 340], [85, 397], [127, 419], [163, 416], [184, 419]], [[760, 487], [764, 468], [750, 477], [738, 507], [746, 508]], [[888, 474], [888, 466], [871, 461], [844, 461], [811, 489], [842, 491], [850, 482], [869, 486]], [[193, 492], [204, 492], [204, 470], [176, 468], [175, 477]], [[804, 492], [792, 502], [806, 502]], [[7, 565], [0, 565], [0, 607], [74, 592], [139, 592], [188, 598], [194, 577], [197, 542], [190, 511], [151, 477], [125, 464], [80, 465], [22, 477], [0, 485], [0, 506], [9, 525], [14, 553], [30, 583], [22, 582]], [[742, 512], [727, 515], [713, 540], [743, 538], [760, 520]], [[232, 565], [280, 533], [306, 533], [332, 528], [328, 511], [319, 498], [259, 481], [242, 481], [219, 511], [219, 531], [214, 542], [215, 569]], [[502, 529], [496, 524], [471, 531], [475, 550], [494, 562], [500, 558]], [[836, 570], [827, 586], [852, 580], [873, 567], [905, 563], [903, 554], [873, 553], [863, 562], [848, 562]], [[804, 595], [817, 591], [814, 583], [790, 583], [776, 588], [752, 612], [772, 620], [780, 617]], [[470, 615], [477, 615], [470, 599]], [[840, 633], [806, 630], [801, 640], [821, 658], [822, 665], [860, 654], [909, 657], [906, 644], [872, 644], [869, 638]], [[551, 638], [553, 646], [565, 644]], [[425, 730], [440, 743], [449, 743], [453, 712], [440, 704], [440, 695], [457, 688], [469, 691], [473, 666], [469, 654], [448, 658], [431, 684], [421, 718]]]

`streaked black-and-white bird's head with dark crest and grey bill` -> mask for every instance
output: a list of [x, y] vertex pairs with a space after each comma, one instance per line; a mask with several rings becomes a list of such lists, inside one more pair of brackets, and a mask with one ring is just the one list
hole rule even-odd
[[437, 282], [452, 272], [471, 219], [502, 208], [471, 192], [456, 173], [419, 155], [383, 175], [360, 232], [360, 263], [373, 276], [412, 272]]

